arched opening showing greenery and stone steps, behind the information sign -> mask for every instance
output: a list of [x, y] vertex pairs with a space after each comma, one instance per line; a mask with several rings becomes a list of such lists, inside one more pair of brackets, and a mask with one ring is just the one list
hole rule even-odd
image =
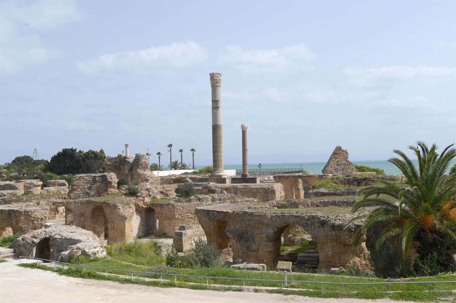
[[293, 272], [316, 272], [319, 262], [318, 247], [310, 233], [302, 226], [290, 224], [281, 226], [275, 236], [275, 245], [280, 244], [278, 261], [292, 262]]

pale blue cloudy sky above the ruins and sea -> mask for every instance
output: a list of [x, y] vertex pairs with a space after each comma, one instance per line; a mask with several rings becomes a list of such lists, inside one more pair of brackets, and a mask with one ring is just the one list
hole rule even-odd
[[[0, 1], [0, 163], [62, 148], [225, 164], [456, 142], [456, 1]], [[157, 160], [151, 156], [151, 162]], [[163, 159], [163, 158], [162, 158]]]

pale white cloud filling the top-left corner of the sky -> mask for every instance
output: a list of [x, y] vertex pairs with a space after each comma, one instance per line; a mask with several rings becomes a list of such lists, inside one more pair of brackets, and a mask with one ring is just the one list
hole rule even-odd
[[47, 62], [61, 51], [43, 45], [37, 31], [50, 30], [78, 20], [80, 13], [71, 1], [2, 3], [0, 18], [0, 62], [2, 72], [17, 72]]

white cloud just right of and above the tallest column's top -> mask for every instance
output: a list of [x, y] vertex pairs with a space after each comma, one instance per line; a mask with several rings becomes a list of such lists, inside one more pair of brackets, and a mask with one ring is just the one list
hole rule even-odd
[[316, 55], [304, 44], [275, 48], [244, 50], [226, 46], [219, 60], [244, 72], [285, 72], [289, 69], [309, 69]]

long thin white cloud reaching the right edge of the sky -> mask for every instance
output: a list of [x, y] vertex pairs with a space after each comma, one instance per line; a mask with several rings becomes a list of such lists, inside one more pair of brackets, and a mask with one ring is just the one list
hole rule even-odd
[[379, 81], [408, 80], [416, 77], [449, 77], [456, 73], [455, 67], [409, 67], [393, 66], [379, 68], [347, 67], [343, 73], [348, 81], [359, 86], [378, 84]]

